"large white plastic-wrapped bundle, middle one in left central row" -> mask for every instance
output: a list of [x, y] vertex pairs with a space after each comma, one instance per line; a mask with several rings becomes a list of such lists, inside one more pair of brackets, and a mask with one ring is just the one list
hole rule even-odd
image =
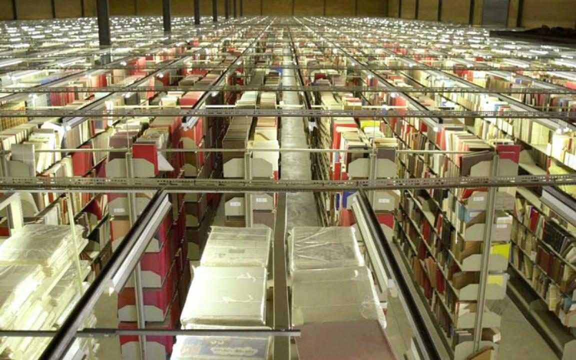
[[265, 308], [266, 268], [200, 266], [180, 320], [185, 328], [263, 327]]

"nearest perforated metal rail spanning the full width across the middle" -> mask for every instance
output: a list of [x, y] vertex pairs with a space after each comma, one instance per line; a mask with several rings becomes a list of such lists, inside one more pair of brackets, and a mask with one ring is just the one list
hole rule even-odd
[[106, 177], [0, 177], [3, 192], [325, 192], [412, 188], [535, 187], [576, 184], [573, 175], [436, 177], [378, 180], [127, 179]]

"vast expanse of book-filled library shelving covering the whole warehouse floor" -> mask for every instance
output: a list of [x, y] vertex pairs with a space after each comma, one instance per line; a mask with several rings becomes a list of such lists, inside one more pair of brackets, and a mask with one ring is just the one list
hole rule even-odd
[[[112, 18], [110, 47], [96, 18], [0, 23], [0, 357], [395, 358], [396, 292], [408, 358], [513, 347], [506, 296], [574, 355], [576, 51], [220, 20]], [[309, 147], [283, 146], [285, 121]], [[286, 180], [290, 151], [311, 179]], [[304, 192], [316, 226], [287, 211]]]

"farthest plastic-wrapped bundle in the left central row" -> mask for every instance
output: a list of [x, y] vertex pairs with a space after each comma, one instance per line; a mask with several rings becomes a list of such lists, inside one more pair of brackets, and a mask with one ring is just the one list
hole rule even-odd
[[202, 266], [268, 266], [270, 228], [212, 226], [202, 253]]

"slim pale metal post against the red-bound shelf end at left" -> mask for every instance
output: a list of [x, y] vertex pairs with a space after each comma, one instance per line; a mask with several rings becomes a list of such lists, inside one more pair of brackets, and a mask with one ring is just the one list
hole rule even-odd
[[[134, 178], [134, 163], [132, 162], [132, 153], [126, 153], [126, 167], [127, 167], [127, 177], [128, 179]], [[130, 215], [130, 226], [134, 226], [138, 214], [136, 213], [136, 194], [133, 192], [128, 194], [128, 214]], [[142, 290], [142, 271], [140, 268], [140, 262], [136, 264], [134, 268], [134, 294], [136, 295], [136, 314], [138, 321], [138, 328], [143, 329], [146, 327], [146, 318], [144, 316], [144, 294]], [[140, 344], [140, 358], [142, 360], [147, 359], [146, 354], [146, 336], [138, 336], [138, 342]]]

